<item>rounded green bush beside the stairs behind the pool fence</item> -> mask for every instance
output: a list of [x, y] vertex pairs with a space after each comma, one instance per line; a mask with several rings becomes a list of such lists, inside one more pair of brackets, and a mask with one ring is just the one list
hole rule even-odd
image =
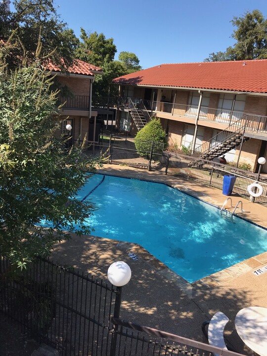
[[160, 119], [155, 117], [134, 138], [134, 145], [140, 156], [149, 158], [152, 141], [164, 143], [166, 147], [166, 132], [161, 126]]

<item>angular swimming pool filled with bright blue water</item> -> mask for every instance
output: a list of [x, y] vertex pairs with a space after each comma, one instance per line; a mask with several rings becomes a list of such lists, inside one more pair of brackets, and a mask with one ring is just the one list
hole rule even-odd
[[140, 244], [189, 282], [267, 251], [267, 230], [165, 184], [96, 174], [79, 197], [99, 208], [94, 235]]

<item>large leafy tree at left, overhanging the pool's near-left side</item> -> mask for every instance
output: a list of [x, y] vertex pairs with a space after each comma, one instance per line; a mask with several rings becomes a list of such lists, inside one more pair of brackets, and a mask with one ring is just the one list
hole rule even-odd
[[63, 230], [90, 233], [85, 220], [94, 206], [77, 190], [98, 160], [89, 161], [78, 144], [66, 151], [55, 137], [58, 92], [51, 92], [49, 73], [39, 58], [7, 71], [9, 50], [8, 43], [0, 48], [0, 251], [24, 267], [69, 238]]

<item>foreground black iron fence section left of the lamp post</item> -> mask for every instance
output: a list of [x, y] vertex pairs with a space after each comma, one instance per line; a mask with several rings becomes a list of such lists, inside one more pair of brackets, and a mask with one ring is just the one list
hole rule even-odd
[[111, 284], [44, 259], [25, 270], [0, 260], [0, 311], [64, 356], [109, 355], [116, 296]]

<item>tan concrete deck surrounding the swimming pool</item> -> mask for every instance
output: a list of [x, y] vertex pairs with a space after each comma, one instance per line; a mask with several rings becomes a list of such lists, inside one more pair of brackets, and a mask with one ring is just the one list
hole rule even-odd
[[[219, 189], [157, 172], [105, 165], [98, 173], [164, 182], [219, 207], [226, 199]], [[233, 205], [238, 200], [243, 201], [243, 209], [247, 211], [242, 214], [244, 218], [267, 227], [266, 207], [239, 197], [233, 196], [232, 199]], [[129, 257], [130, 253], [134, 253], [138, 260]], [[267, 272], [253, 273], [267, 266], [267, 252], [191, 284], [140, 245], [123, 241], [73, 236], [73, 239], [55, 246], [53, 259], [104, 280], [111, 263], [125, 261], [132, 269], [132, 279], [123, 288], [122, 318], [207, 342], [202, 335], [201, 324], [215, 312], [222, 311], [230, 319], [226, 325], [226, 339], [239, 353], [250, 351], [235, 331], [233, 321], [236, 313], [249, 306], [267, 308]]]

